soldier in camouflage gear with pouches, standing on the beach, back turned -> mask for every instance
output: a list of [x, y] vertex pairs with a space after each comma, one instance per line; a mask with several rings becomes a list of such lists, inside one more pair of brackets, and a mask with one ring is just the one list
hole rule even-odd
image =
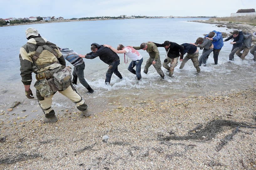
[[66, 62], [59, 48], [41, 37], [35, 28], [28, 28], [25, 33], [28, 42], [19, 52], [21, 81], [25, 87], [26, 97], [33, 99], [30, 84], [32, 72], [36, 74], [37, 81], [34, 86], [37, 89], [39, 106], [45, 114], [44, 122], [53, 123], [58, 120], [51, 108], [52, 97], [57, 91], [74, 102], [77, 109], [82, 112], [81, 115], [89, 116], [87, 105], [71, 84], [71, 75], [66, 72]]

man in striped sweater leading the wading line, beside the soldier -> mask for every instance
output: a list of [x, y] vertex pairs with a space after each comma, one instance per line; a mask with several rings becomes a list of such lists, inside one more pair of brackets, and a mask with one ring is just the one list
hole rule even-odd
[[77, 83], [77, 78], [79, 79], [80, 83], [88, 90], [89, 93], [93, 93], [94, 90], [89, 86], [84, 78], [84, 68], [85, 63], [82, 58], [78, 56], [78, 54], [69, 49], [69, 48], [60, 48], [60, 52], [62, 53], [63, 57], [74, 66], [74, 71], [72, 73], [73, 84]]

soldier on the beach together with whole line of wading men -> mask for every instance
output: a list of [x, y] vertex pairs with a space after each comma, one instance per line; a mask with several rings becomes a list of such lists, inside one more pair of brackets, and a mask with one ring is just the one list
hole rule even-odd
[[[58, 119], [55, 116], [54, 110], [51, 108], [52, 97], [58, 91], [72, 102], [76, 104], [78, 110], [81, 111], [81, 116], [88, 117], [90, 113], [87, 111], [87, 105], [83, 98], [77, 93], [73, 84], [77, 84], [77, 79], [88, 90], [88, 93], [93, 93], [94, 90], [86, 82], [84, 78], [85, 63], [82, 58], [93, 59], [99, 57], [104, 63], [108, 64], [108, 70], [106, 73], [105, 84], [109, 85], [112, 74], [122, 79], [121, 73], [118, 71], [118, 65], [120, 59], [117, 53], [124, 53], [132, 60], [129, 64], [128, 70], [135, 74], [138, 80], [141, 80], [141, 64], [143, 57], [137, 50], [146, 50], [149, 53], [149, 59], [144, 66], [144, 73], [148, 73], [148, 69], [151, 65], [154, 66], [156, 72], [165, 78], [165, 74], [161, 69], [162, 63], [159, 56], [158, 47], [164, 47], [166, 50], [166, 58], [163, 62], [163, 67], [169, 71], [171, 77], [174, 72], [174, 68], [178, 64], [180, 57], [180, 69], [185, 66], [185, 63], [191, 59], [196, 68], [197, 73], [200, 73], [200, 66], [206, 65], [208, 56], [213, 51], [214, 63], [218, 63], [218, 55], [223, 47], [225, 41], [234, 39], [229, 60], [234, 60], [234, 54], [236, 53], [242, 60], [249, 52], [251, 47], [252, 37], [256, 38], [256, 32], [243, 33], [242, 31], [234, 31], [230, 37], [223, 41], [222, 33], [212, 31], [205, 37], [197, 38], [195, 43], [183, 43], [181, 45], [165, 41], [162, 44], [156, 42], [141, 43], [139, 47], [126, 46], [122, 44], [118, 45], [115, 49], [110, 45], [99, 45], [97, 43], [91, 44], [91, 52], [86, 55], [76, 53], [69, 48], [60, 48], [54, 43], [47, 41], [41, 37], [39, 32], [35, 28], [28, 28], [25, 31], [28, 42], [20, 48], [20, 75], [22, 83], [25, 88], [25, 95], [29, 99], [33, 99], [33, 93], [30, 89], [32, 82], [32, 72], [36, 75], [37, 81], [34, 84], [36, 88], [36, 96], [39, 106], [44, 112], [45, 123], [56, 122]], [[202, 55], [198, 60], [199, 51], [197, 47], [203, 49]], [[243, 53], [241, 53], [243, 51]], [[187, 53], [183, 59], [184, 54]], [[254, 45], [250, 51], [253, 54], [253, 60], [256, 61], [256, 45]], [[66, 67], [65, 59], [74, 66], [73, 79], [71, 76], [71, 67]], [[169, 66], [170, 63], [170, 66]], [[136, 70], [133, 68], [136, 66]]]

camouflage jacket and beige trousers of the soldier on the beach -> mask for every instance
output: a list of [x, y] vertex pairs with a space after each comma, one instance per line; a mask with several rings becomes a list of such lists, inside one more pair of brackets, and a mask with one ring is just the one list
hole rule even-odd
[[[34, 28], [31, 28], [31, 29], [34, 29]], [[35, 31], [37, 32], [37, 30]], [[32, 35], [37, 35], [37, 34], [38, 33], [32, 32]], [[39, 80], [36, 82], [37, 84], [40, 84], [43, 82], [47, 84], [49, 83], [50, 79], [53, 80], [52, 76], [54, 73], [58, 74], [62, 70], [62, 68], [65, 67], [65, 59], [63, 58], [58, 47], [55, 44], [48, 42], [45, 38], [40, 37], [40, 34], [38, 34], [38, 36], [32, 36], [32, 37], [27, 36], [27, 38], [29, 40], [23, 47], [20, 48], [20, 54], [19, 54], [20, 66], [21, 66], [20, 75], [22, 77], [22, 82], [24, 85], [30, 86], [32, 82], [32, 72], [34, 72], [36, 73], [36, 77], [39, 78]], [[51, 47], [56, 54], [51, 53], [46, 49], [43, 49], [43, 51], [39, 54], [36, 60], [32, 59], [32, 57], [35, 56], [34, 54], [36, 53], [37, 48], [45, 44]], [[46, 73], [49, 73], [50, 77], [45, 77], [41, 79], [39, 75], [43, 75], [43, 74], [46, 75]], [[42, 87], [44, 87], [44, 85], [45, 84], [43, 84]], [[76, 103], [76, 107], [78, 110], [81, 110], [81, 111], [86, 110], [87, 105], [84, 103], [84, 100], [76, 92], [76, 89], [72, 87], [70, 84], [66, 85], [66, 87], [63, 88], [63, 90], [54, 90], [54, 93], [49, 93], [44, 97], [39, 93], [39, 90], [36, 90], [38, 103], [42, 108], [46, 118], [55, 117], [55, 112], [51, 108], [51, 104], [52, 104], [52, 97], [56, 93], [56, 91], [59, 91], [61, 94], [69, 98], [72, 102]]]

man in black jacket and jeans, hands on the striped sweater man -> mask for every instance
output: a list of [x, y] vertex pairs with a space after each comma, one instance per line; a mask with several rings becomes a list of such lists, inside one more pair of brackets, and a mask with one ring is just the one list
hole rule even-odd
[[120, 79], [123, 78], [118, 71], [118, 65], [120, 64], [119, 56], [108, 47], [103, 47], [102, 45], [99, 45], [97, 43], [92, 43], [91, 53], [87, 53], [86, 55], [79, 54], [78, 56], [88, 59], [93, 59], [99, 56], [104, 63], [108, 64], [109, 68], [107, 70], [105, 80], [106, 84], [110, 83], [113, 73], [115, 73], [115, 75], [117, 75], [117, 77], [119, 77]]

